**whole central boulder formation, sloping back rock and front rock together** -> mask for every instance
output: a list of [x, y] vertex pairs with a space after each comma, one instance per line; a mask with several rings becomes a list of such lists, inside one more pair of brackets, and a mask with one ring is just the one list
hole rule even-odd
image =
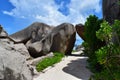
[[76, 30], [72, 24], [63, 23], [55, 28], [44, 23], [33, 23], [26, 29], [10, 35], [16, 43], [24, 43], [32, 57], [49, 52], [71, 54]]

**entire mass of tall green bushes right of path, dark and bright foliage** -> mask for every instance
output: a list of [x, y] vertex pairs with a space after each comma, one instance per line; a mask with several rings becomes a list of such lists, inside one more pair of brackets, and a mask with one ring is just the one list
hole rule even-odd
[[85, 23], [84, 53], [93, 80], [120, 80], [120, 21], [113, 25], [89, 16]]

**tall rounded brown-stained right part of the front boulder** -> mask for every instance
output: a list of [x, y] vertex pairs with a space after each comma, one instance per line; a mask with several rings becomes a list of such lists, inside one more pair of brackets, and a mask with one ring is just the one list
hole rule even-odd
[[51, 32], [51, 51], [71, 54], [76, 40], [76, 30], [72, 24], [63, 23]]

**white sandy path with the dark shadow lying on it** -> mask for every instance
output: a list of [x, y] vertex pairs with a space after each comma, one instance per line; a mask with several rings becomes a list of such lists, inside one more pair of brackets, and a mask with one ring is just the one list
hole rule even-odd
[[68, 56], [34, 80], [89, 80], [91, 72], [86, 68], [87, 57]]

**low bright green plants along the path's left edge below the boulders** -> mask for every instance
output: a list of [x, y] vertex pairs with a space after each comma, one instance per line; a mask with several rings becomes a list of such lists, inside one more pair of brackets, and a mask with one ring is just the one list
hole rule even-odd
[[55, 63], [60, 62], [63, 57], [64, 57], [64, 54], [56, 52], [56, 53], [54, 53], [53, 57], [44, 58], [42, 61], [40, 61], [36, 65], [36, 70], [38, 72], [40, 72], [40, 71], [44, 70], [45, 68], [47, 68], [48, 66], [53, 66]]

